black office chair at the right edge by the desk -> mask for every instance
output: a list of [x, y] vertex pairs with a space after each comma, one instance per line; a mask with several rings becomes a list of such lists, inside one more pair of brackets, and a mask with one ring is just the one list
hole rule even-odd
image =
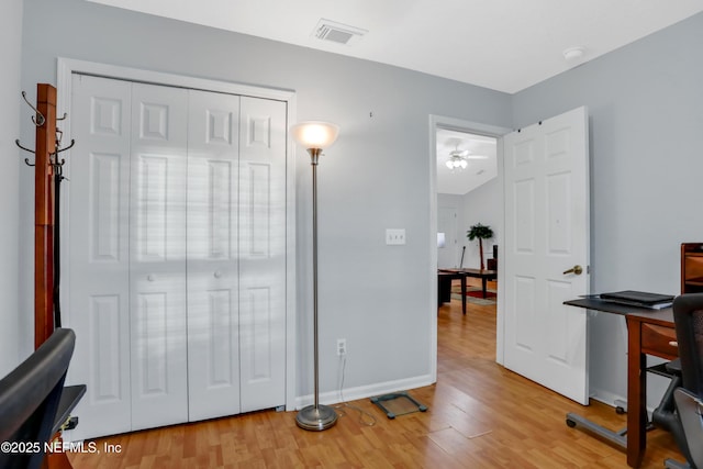
[[[700, 439], [701, 429], [699, 428], [696, 436], [692, 434], [690, 428], [698, 414], [690, 414], [691, 409], [695, 412], [695, 407], [687, 402], [685, 398], [687, 394], [694, 398], [703, 395], [703, 293], [687, 293], [677, 297], [673, 300], [673, 323], [681, 362], [681, 388], [674, 391], [681, 435], [674, 434], [674, 439], [685, 457], [688, 466], [672, 459], [667, 459], [665, 466], [668, 468], [703, 468], [701, 461], [698, 460], [696, 465], [696, 459], [694, 459], [694, 457], [701, 456], [701, 446], [703, 446], [703, 439]], [[687, 415], [683, 415], [683, 412]], [[689, 444], [689, 442], [695, 442], [695, 444]]]

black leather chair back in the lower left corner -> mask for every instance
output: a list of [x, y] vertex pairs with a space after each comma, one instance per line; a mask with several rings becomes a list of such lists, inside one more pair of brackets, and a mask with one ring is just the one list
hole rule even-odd
[[0, 468], [40, 468], [53, 436], [76, 335], [57, 328], [0, 381]]

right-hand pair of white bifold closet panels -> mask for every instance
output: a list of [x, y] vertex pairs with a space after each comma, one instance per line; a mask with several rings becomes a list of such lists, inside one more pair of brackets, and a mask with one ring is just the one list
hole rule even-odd
[[286, 104], [202, 91], [190, 98], [188, 389], [194, 421], [286, 399]]

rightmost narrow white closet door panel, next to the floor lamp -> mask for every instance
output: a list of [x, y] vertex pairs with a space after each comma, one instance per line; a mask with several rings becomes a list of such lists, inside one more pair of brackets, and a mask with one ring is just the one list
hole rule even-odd
[[286, 103], [242, 98], [239, 340], [242, 412], [284, 403]]

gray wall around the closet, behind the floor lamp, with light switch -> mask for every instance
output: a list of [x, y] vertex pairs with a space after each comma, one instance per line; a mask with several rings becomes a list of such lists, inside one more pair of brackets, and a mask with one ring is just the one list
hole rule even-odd
[[[429, 373], [436, 311], [429, 302], [434, 282], [428, 282], [435, 245], [429, 239], [428, 115], [509, 126], [510, 96], [82, 0], [27, 0], [25, 10], [24, 88], [55, 83], [56, 57], [63, 56], [293, 89], [300, 120], [338, 123], [339, 139], [319, 169], [321, 391], [336, 390], [337, 337], [348, 343], [347, 388]], [[32, 129], [22, 125], [31, 136]], [[312, 255], [310, 165], [303, 152], [297, 165], [298, 393], [304, 395], [312, 391]], [[29, 197], [23, 190], [23, 205]], [[408, 244], [386, 246], [387, 227], [404, 227]], [[27, 230], [31, 223], [24, 220], [23, 235]], [[30, 243], [22, 252], [31, 253]], [[27, 306], [31, 288], [22, 298]], [[30, 331], [25, 324], [23, 344], [29, 345]]]

